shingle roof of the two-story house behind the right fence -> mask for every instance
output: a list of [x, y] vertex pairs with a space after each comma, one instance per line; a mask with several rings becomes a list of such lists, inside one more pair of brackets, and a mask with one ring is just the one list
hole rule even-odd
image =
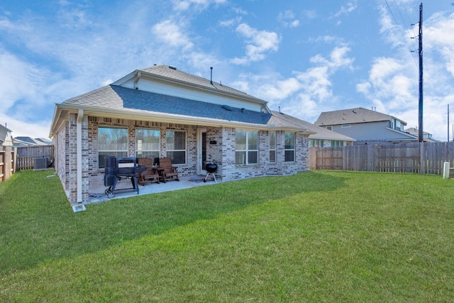
[[[341, 109], [339, 111], [323, 111], [319, 119], [314, 124], [317, 126], [330, 126], [330, 125], [341, 125], [341, 124], [354, 124], [354, 123], [367, 123], [367, 122], [378, 122], [378, 121], [389, 121], [390, 119], [397, 119], [394, 116], [379, 113], [378, 111], [372, 111], [370, 109], [364, 109], [357, 107], [355, 109]], [[397, 119], [406, 125], [406, 122]]]

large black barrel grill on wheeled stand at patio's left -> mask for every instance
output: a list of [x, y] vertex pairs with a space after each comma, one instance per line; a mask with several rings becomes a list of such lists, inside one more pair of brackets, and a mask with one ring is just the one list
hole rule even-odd
[[[147, 170], [147, 167], [138, 165], [137, 158], [115, 158], [114, 156], [106, 156], [104, 160], [104, 186], [108, 186], [104, 192], [107, 197], [113, 198], [115, 192], [137, 192], [139, 187], [137, 184], [137, 174]], [[121, 179], [131, 179], [132, 188], [115, 189], [118, 181]]]

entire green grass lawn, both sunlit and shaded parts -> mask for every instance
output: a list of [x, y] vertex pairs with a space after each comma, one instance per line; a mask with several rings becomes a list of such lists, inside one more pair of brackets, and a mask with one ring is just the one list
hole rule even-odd
[[454, 298], [454, 181], [441, 176], [303, 172], [74, 214], [48, 175], [0, 183], [0, 302]]

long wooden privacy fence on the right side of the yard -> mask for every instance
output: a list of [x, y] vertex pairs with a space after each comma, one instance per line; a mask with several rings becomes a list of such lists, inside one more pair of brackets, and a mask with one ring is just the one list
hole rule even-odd
[[443, 175], [454, 165], [454, 142], [352, 145], [309, 148], [311, 170], [414, 172]]

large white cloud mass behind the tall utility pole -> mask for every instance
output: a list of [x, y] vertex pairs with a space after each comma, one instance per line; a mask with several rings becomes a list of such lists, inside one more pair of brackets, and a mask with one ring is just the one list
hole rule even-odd
[[[418, 126], [418, 66], [409, 56], [399, 26], [384, 7], [380, 24], [382, 35], [396, 49], [395, 55], [375, 58], [368, 79], [357, 84], [357, 91], [372, 101], [377, 111], [403, 119], [406, 127]], [[424, 24], [423, 130], [445, 140], [445, 109], [454, 101], [454, 14], [436, 13]]]

